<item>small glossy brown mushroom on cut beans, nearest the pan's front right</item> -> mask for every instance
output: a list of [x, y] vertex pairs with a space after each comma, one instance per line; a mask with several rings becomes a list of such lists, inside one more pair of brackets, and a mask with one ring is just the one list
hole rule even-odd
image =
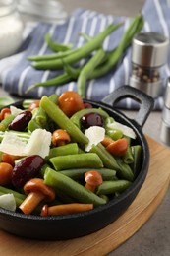
[[94, 192], [103, 182], [102, 175], [97, 170], [89, 170], [85, 172], [85, 182], [85, 187]]

